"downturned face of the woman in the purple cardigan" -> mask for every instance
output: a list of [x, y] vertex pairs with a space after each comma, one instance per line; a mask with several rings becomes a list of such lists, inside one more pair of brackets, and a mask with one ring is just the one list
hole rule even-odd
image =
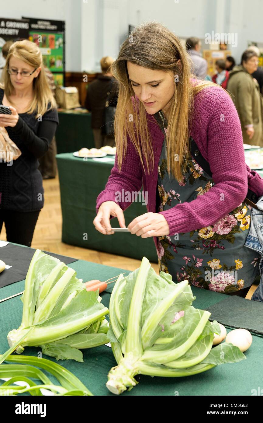
[[173, 73], [153, 71], [127, 61], [129, 80], [134, 93], [150, 115], [167, 111], [175, 92]]

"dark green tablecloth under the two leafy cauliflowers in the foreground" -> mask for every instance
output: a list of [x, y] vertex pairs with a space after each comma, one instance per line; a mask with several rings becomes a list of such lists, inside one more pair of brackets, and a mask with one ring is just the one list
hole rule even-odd
[[[123, 272], [122, 269], [102, 266], [87, 261], [75, 261], [68, 265], [77, 271], [77, 276], [83, 281], [89, 279], [107, 280], [108, 278]], [[126, 271], [127, 272], [127, 271]], [[16, 282], [12, 285], [0, 288], [0, 299], [20, 292], [24, 289], [25, 281]], [[109, 286], [109, 291], [112, 290]], [[205, 309], [210, 305], [222, 300], [222, 295], [217, 292], [206, 291], [192, 287], [196, 300], [193, 305], [196, 308]], [[110, 293], [101, 294], [102, 303], [109, 306]], [[22, 317], [22, 302], [19, 297], [9, 299], [0, 303], [0, 354], [8, 349], [6, 335], [11, 329], [19, 327]], [[229, 330], [227, 330], [229, 332]], [[221, 396], [221, 395], [251, 395], [252, 389], [262, 386], [262, 349], [263, 338], [252, 335], [253, 341], [250, 349], [245, 352], [247, 360], [239, 363], [219, 365], [207, 372], [182, 378], [164, 378], [138, 376], [139, 384], [130, 392], [122, 395], [153, 395], [153, 396], [174, 396], [178, 391], [179, 396]], [[37, 356], [38, 348], [26, 347], [23, 354]], [[55, 361], [52, 357], [44, 358]], [[115, 359], [108, 346], [100, 346], [93, 349], [83, 350], [84, 363], [77, 363], [73, 360], [59, 360], [58, 363], [74, 373], [94, 395], [113, 395], [105, 383], [107, 374], [114, 365]], [[45, 371], [44, 371], [45, 373]], [[56, 379], [50, 376], [52, 382]]]

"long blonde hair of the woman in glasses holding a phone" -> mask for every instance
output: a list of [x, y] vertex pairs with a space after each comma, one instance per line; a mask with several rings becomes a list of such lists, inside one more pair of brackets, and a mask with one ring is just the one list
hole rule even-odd
[[52, 91], [49, 88], [47, 77], [44, 71], [41, 51], [35, 43], [29, 40], [16, 41], [11, 45], [8, 51], [5, 67], [3, 69], [4, 79], [2, 85], [8, 101], [11, 103], [9, 96], [11, 96], [14, 90], [10, 75], [7, 71], [9, 68], [9, 61], [12, 56], [14, 56], [16, 59], [22, 60], [23, 62], [27, 63], [27, 65], [33, 66], [33, 68], [38, 68], [41, 66], [41, 71], [39, 72], [38, 76], [33, 79], [33, 101], [30, 103], [27, 113], [36, 112], [37, 119], [39, 115], [44, 115], [47, 110], [56, 108], [57, 105]]

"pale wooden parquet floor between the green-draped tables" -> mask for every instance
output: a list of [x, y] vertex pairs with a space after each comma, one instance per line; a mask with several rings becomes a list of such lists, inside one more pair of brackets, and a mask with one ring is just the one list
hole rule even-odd
[[[100, 251], [88, 250], [86, 248], [75, 247], [61, 242], [62, 214], [58, 176], [56, 176], [55, 179], [44, 180], [43, 184], [45, 190], [45, 203], [38, 217], [32, 241], [33, 248], [39, 248], [40, 250], [68, 255], [74, 258], [92, 261], [93, 263], [131, 271], [140, 266], [140, 260], [122, 257], [120, 255], [101, 253]], [[4, 226], [0, 233], [0, 239], [6, 239]], [[156, 263], [151, 263], [151, 266], [158, 273], [158, 265]], [[255, 288], [256, 286], [252, 285], [247, 294], [247, 299], [252, 297]]]

